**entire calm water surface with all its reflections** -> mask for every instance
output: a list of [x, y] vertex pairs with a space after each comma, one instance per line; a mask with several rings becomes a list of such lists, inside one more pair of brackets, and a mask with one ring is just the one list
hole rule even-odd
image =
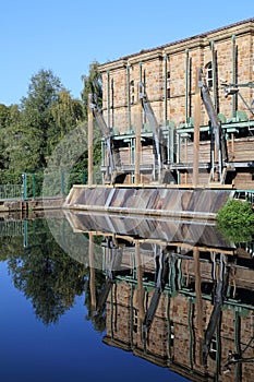
[[253, 242], [215, 224], [0, 220], [3, 382], [251, 381]]

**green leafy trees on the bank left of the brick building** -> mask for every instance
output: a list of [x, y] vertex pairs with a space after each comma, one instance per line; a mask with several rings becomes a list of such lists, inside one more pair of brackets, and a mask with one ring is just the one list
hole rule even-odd
[[[21, 184], [21, 175], [26, 172], [27, 194], [40, 195], [41, 176], [49, 163], [50, 167], [52, 164], [56, 167], [55, 174], [71, 174], [65, 177], [64, 192], [73, 182], [83, 182], [83, 174], [87, 170], [88, 93], [96, 93], [99, 105], [102, 99], [97, 62], [90, 64], [89, 73], [83, 80], [82, 99], [73, 99], [60, 79], [51, 70], [43, 69], [32, 76], [27, 96], [22, 98], [21, 105], [0, 105], [0, 183]], [[75, 133], [76, 129], [83, 133]], [[94, 134], [95, 164], [100, 164], [100, 134], [96, 129]], [[36, 174], [36, 186], [33, 186], [33, 174]], [[53, 194], [61, 192], [59, 179], [57, 176]]]

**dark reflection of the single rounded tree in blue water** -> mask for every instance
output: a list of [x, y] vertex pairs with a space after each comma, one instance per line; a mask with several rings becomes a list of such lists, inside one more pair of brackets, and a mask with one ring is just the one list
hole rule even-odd
[[[32, 301], [45, 325], [57, 323], [84, 293], [85, 268], [63, 252], [52, 238], [46, 220], [31, 222], [29, 246], [23, 241], [9, 254], [8, 266], [14, 286]], [[36, 235], [36, 236], [35, 236]]]

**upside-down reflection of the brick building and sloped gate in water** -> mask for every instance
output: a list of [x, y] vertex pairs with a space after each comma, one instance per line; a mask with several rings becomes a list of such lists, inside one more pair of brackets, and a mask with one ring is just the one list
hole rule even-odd
[[[106, 310], [105, 344], [193, 381], [252, 380], [250, 248], [228, 242], [213, 225], [201, 230], [201, 225], [178, 222], [172, 234], [170, 222], [144, 220], [123, 235], [117, 217], [106, 224], [105, 216], [72, 213], [68, 219], [73, 229], [89, 232], [92, 306], [94, 315]], [[153, 227], [146, 237], [145, 224]], [[104, 237], [105, 285], [96, 298], [93, 248], [98, 234]]]

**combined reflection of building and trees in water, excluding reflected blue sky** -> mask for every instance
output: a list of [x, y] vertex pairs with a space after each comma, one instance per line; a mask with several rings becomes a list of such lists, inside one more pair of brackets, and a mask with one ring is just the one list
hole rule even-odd
[[45, 325], [85, 290], [105, 344], [193, 381], [251, 379], [253, 242], [229, 242], [213, 224], [47, 218], [0, 225], [0, 259]]

